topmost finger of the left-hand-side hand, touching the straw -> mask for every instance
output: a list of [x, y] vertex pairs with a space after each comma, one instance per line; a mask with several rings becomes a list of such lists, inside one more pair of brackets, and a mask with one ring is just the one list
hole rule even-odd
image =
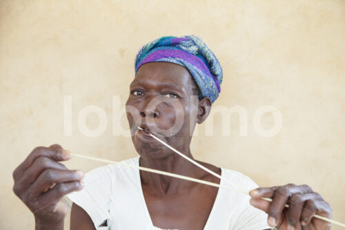
[[21, 178], [21, 175], [23, 172], [28, 169], [36, 160], [38, 157], [49, 157], [52, 160], [56, 161], [63, 161], [70, 159], [70, 151], [64, 150], [61, 148], [61, 146], [57, 144], [53, 144], [52, 146], [49, 146], [49, 148], [40, 146], [37, 148], [34, 148], [34, 150], [26, 157], [26, 160], [24, 160], [17, 169], [13, 172], [13, 178], [14, 181], [18, 180], [18, 178]]

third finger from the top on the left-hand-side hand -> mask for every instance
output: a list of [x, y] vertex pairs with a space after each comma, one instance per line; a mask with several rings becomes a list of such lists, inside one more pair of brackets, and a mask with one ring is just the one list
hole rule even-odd
[[72, 182], [81, 180], [83, 178], [83, 171], [81, 170], [56, 170], [46, 169], [39, 175], [39, 178], [30, 187], [30, 192], [34, 196], [38, 196], [46, 189], [52, 187], [54, 184], [63, 182]]

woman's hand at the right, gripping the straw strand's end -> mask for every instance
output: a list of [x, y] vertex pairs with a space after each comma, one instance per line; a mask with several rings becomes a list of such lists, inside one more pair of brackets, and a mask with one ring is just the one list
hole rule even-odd
[[[331, 218], [331, 206], [308, 185], [286, 184], [250, 191], [250, 204], [268, 213], [268, 224], [281, 229], [331, 229], [331, 223], [314, 214]], [[268, 202], [261, 198], [271, 198]], [[286, 208], [285, 204], [289, 207]]]

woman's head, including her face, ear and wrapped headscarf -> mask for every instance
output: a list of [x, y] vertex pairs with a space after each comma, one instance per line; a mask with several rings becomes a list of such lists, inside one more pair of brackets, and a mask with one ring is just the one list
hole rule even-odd
[[204, 122], [220, 92], [222, 70], [213, 52], [195, 36], [162, 37], [141, 48], [135, 73], [126, 111], [137, 152], [168, 154], [147, 133], [189, 148], [195, 125]]

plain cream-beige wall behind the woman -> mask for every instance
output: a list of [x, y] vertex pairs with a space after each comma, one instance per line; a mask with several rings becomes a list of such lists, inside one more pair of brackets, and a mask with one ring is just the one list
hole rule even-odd
[[[260, 186], [309, 184], [345, 222], [345, 1], [0, 1], [0, 229], [32, 229], [32, 214], [12, 193], [12, 171], [35, 146], [59, 143], [73, 153], [124, 160], [137, 155], [116, 136], [112, 97], [124, 105], [139, 48], [164, 35], [198, 35], [224, 67], [214, 106], [244, 106], [248, 135], [221, 115], [214, 135], [198, 128], [192, 151], [241, 171]], [[72, 96], [72, 135], [63, 133], [63, 98]], [[99, 137], [78, 128], [82, 108], [106, 111]], [[264, 105], [282, 114], [274, 137], [255, 132]], [[211, 122], [208, 120], [208, 122]], [[122, 116], [115, 126], [128, 129]], [[95, 114], [89, 128], [97, 128]], [[269, 113], [262, 124], [270, 128]], [[118, 129], [117, 129], [118, 130]], [[103, 164], [79, 160], [70, 169]], [[69, 218], [66, 220], [68, 226]], [[339, 229], [333, 226], [333, 229]]]

